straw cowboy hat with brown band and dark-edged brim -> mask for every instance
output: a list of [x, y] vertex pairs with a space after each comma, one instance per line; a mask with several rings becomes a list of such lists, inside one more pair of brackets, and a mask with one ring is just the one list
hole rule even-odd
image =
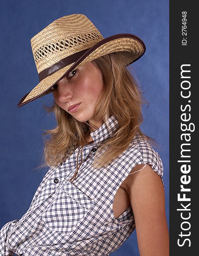
[[145, 44], [136, 35], [118, 34], [103, 38], [94, 24], [82, 14], [61, 17], [31, 38], [39, 84], [18, 103], [21, 107], [45, 94], [74, 68], [111, 52], [120, 52], [126, 65], [138, 60]]

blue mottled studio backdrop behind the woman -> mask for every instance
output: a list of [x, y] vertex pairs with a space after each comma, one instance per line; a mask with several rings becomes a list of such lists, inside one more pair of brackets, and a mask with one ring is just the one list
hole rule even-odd
[[[104, 37], [138, 35], [145, 55], [133, 64], [149, 107], [142, 131], [159, 143], [164, 165], [169, 223], [169, 1], [168, 0], [6, 0], [0, 8], [0, 227], [21, 218], [46, 170], [35, 168], [43, 152], [43, 130], [54, 127], [42, 104], [52, 95], [17, 108], [37, 83], [30, 39], [64, 15], [83, 13]], [[111, 256], [138, 256], [136, 232]]]

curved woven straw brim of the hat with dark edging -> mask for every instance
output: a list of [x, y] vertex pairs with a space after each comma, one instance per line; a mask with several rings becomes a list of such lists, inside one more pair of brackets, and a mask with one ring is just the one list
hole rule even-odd
[[143, 41], [133, 34], [119, 34], [105, 38], [89, 48], [82, 56], [75, 62], [63, 67], [56, 71], [51, 76], [47, 76], [40, 81], [29, 93], [27, 93], [18, 103], [17, 107], [21, 107], [28, 102], [31, 102], [37, 98], [51, 93], [51, 87], [61, 80], [64, 76], [67, 76], [74, 68], [80, 67], [85, 63], [93, 61], [103, 55], [107, 55], [112, 52], [120, 52], [126, 61], [126, 65], [130, 65], [134, 61], [138, 60], [145, 53], [145, 44]]

